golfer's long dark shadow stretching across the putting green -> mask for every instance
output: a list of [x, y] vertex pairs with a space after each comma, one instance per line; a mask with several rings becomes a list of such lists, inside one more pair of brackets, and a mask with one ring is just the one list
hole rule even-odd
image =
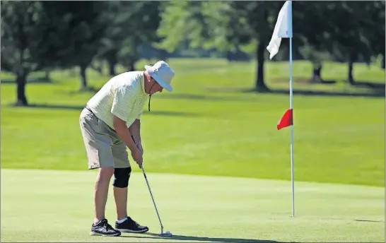
[[[121, 237], [127, 238], [137, 238], [137, 239], [172, 239], [172, 240], [180, 240], [185, 242], [245, 242], [245, 243], [285, 243], [285, 242], [276, 242], [274, 240], [264, 240], [264, 239], [238, 239], [238, 238], [212, 238], [212, 237], [196, 237], [196, 236], [188, 236], [188, 235], [173, 235], [172, 237], [160, 237], [157, 234], [153, 233], [145, 233], [143, 235], [148, 236], [127, 236], [121, 235]], [[289, 242], [286, 242], [289, 243]]]

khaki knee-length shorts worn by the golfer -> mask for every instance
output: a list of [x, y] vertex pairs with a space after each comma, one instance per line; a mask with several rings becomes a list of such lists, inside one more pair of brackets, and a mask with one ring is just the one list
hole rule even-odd
[[104, 121], [84, 108], [79, 117], [88, 159], [88, 170], [130, 167], [127, 146]]

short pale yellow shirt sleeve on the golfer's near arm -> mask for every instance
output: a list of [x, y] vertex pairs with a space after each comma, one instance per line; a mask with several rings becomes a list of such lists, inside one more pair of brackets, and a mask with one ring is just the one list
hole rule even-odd
[[135, 101], [136, 94], [130, 86], [117, 88], [112, 101], [111, 113], [124, 121], [127, 121]]

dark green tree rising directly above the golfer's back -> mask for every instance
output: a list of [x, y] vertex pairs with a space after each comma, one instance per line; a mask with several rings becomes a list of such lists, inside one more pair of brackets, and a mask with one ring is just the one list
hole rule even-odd
[[103, 37], [99, 59], [106, 59], [109, 73], [115, 75], [116, 64], [134, 70], [139, 60], [137, 47], [156, 40], [160, 23], [160, 1], [109, 1], [103, 13], [110, 24]]

